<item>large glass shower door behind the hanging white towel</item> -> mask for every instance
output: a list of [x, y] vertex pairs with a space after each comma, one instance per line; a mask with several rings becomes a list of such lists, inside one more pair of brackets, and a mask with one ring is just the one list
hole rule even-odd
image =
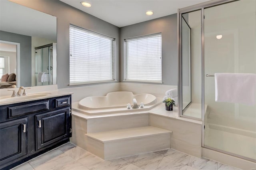
[[255, 14], [256, 0], [204, 9], [204, 147], [251, 161], [256, 161], [256, 105], [216, 102], [214, 73], [256, 73]]

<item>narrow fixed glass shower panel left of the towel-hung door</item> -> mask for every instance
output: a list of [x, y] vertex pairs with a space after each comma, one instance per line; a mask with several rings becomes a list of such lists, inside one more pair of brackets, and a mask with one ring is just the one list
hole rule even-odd
[[201, 10], [182, 14], [182, 116], [202, 119]]

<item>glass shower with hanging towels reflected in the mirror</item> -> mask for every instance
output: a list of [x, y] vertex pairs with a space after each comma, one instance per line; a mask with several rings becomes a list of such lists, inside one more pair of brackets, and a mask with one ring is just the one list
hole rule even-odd
[[35, 85], [56, 84], [56, 43], [35, 47]]

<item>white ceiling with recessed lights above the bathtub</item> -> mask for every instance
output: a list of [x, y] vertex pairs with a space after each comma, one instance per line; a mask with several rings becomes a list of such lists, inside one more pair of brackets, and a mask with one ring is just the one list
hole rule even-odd
[[[177, 13], [178, 8], [206, 2], [208, 0], [60, 0], [88, 14], [96, 16], [115, 26], [123, 27], [162, 16]], [[81, 1], [92, 6], [86, 8]], [[147, 16], [147, 10], [153, 10], [154, 15]]]

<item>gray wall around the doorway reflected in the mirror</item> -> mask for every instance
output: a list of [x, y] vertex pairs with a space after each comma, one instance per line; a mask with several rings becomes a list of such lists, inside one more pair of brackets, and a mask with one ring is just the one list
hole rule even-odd
[[0, 31], [0, 40], [20, 43], [20, 85], [31, 86], [31, 37]]

